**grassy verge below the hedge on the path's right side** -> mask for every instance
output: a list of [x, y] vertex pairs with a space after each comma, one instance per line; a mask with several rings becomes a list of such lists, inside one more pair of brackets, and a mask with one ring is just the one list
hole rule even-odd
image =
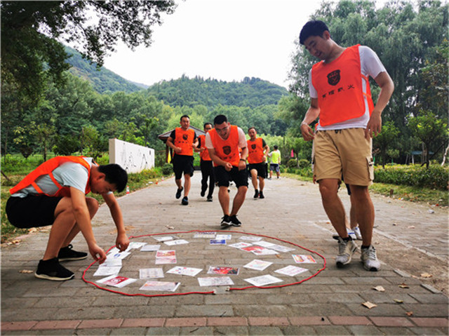
[[[283, 176], [300, 181], [312, 182], [311, 177], [304, 177], [291, 173], [283, 173]], [[448, 206], [448, 191], [434, 190], [422, 187], [410, 187], [396, 184], [374, 183], [370, 191], [382, 196], [391, 196], [394, 199], [404, 201], [428, 203], [430, 205]]]

